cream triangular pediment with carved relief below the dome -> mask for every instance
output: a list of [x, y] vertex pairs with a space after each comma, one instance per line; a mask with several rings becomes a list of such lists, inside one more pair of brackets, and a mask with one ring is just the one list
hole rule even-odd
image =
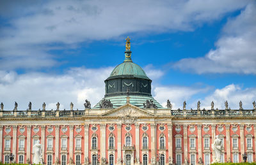
[[115, 108], [113, 110], [107, 111], [106, 113], [103, 113], [102, 116], [108, 116], [108, 117], [152, 117], [154, 116], [154, 113], [151, 113], [147, 110], [143, 110], [141, 108], [138, 108], [137, 106], [134, 106], [132, 104], [125, 104], [123, 106], [120, 106], [118, 108]]

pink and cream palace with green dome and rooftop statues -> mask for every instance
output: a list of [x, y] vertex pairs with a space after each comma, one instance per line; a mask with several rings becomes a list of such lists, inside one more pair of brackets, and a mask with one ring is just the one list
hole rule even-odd
[[[130, 39], [125, 59], [105, 80], [105, 96], [84, 110], [0, 110], [0, 162], [33, 164], [34, 145], [40, 140], [47, 165], [210, 164], [214, 140], [221, 140], [220, 162], [256, 161], [256, 108], [210, 110], [200, 107], [173, 110], [151, 94], [150, 78], [132, 62]], [[93, 97], [93, 96], [92, 96]], [[168, 96], [166, 96], [168, 97]], [[167, 98], [166, 98], [167, 99]], [[219, 145], [220, 146], [220, 145]], [[215, 155], [216, 156], [216, 155]]]

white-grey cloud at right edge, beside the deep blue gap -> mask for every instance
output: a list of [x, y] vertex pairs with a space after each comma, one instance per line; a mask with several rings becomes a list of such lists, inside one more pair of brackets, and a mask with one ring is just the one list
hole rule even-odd
[[246, 6], [223, 28], [216, 49], [205, 57], [182, 59], [175, 68], [196, 73], [256, 74], [256, 4]]

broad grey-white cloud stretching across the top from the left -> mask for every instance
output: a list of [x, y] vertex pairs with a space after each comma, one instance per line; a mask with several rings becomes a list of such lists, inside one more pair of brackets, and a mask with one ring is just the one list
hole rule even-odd
[[8, 27], [1, 27], [0, 57], [4, 65], [0, 69], [53, 66], [56, 61], [47, 50], [55, 49], [56, 43], [65, 49], [83, 41], [113, 39], [130, 32], [192, 31], [250, 1], [25, 2], [1, 5], [1, 15], [12, 19], [6, 23]]

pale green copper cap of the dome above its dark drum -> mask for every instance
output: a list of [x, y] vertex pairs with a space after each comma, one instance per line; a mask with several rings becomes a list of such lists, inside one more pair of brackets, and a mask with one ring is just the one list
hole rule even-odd
[[116, 68], [111, 72], [110, 76], [122, 76], [122, 75], [132, 75], [138, 78], [149, 79], [145, 71], [132, 61], [124, 61], [122, 64], [116, 66]]

